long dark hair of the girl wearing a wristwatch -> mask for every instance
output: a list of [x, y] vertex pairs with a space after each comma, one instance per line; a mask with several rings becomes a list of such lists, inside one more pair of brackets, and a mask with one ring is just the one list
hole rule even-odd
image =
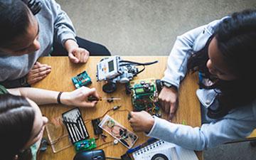
[[[206, 63], [208, 44], [213, 36], [225, 63], [232, 68], [236, 80], [218, 80], [210, 75]], [[219, 89], [218, 110], [208, 109], [208, 117], [218, 119], [236, 107], [250, 104], [256, 98], [255, 55], [256, 55], [256, 10], [245, 10], [225, 18], [215, 28], [206, 46], [188, 59], [188, 70], [200, 71], [204, 78], [215, 82], [212, 86], [201, 87]]]

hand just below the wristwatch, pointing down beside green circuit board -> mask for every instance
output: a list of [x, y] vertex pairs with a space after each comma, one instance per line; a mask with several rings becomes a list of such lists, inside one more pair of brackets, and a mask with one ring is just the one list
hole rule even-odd
[[178, 92], [172, 87], [163, 87], [159, 94], [159, 102], [168, 119], [172, 119], [178, 107]]

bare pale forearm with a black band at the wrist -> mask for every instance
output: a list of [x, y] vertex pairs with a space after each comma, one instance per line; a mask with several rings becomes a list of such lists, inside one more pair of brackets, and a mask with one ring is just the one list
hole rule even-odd
[[[58, 103], [57, 97], [59, 92], [52, 90], [43, 90], [34, 87], [20, 87], [8, 90], [12, 95], [21, 95], [28, 97], [36, 102], [37, 105], [56, 104]], [[64, 105], [68, 105], [67, 92], [63, 92], [60, 97], [60, 102]]]

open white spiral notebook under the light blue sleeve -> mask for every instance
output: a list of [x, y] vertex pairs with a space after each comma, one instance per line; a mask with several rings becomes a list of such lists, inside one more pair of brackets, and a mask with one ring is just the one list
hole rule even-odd
[[161, 140], [134, 151], [132, 156], [134, 160], [198, 160], [194, 151]]

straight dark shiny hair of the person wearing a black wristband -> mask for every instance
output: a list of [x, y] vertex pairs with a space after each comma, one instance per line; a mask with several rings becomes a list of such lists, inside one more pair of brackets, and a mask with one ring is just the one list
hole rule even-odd
[[[35, 112], [25, 97], [0, 95], [0, 155], [11, 160], [15, 155], [25, 159], [21, 149], [31, 138]], [[31, 151], [26, 159], [31, 159]]]

